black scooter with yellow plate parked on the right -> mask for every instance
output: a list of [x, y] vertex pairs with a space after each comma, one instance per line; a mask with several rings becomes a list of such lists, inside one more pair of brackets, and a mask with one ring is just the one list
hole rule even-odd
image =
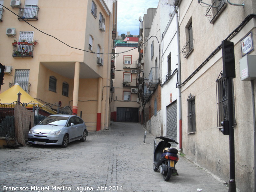
[[179, 160], [178, 150], [176, 148], [171, 148], [172, 143], [179, 144], [175, 140], [169, 137], [156, 137], [163, 141], [160, 141], [154, 151], [154, 165], [153, 170], [160, 170], [160, 173], [163, 175], [164, 180], [168, 181], [172, 175], [178, 175], [175, 165]]

